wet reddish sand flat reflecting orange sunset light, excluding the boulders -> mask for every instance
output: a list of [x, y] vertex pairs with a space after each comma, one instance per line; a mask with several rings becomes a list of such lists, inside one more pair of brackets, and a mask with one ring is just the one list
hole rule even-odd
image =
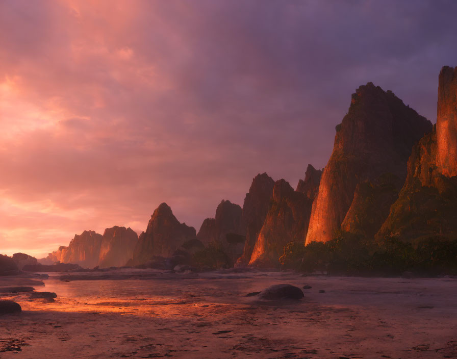
[[[67, 282], [60, 274], [39, 279], [44, 286], [0, 278], [57, 293], [55, 302], [0, 293], [22, 306], [0, 316], [0, 358], [457, 357], [455, 278], [124, 270], [110, 272], [117, 280]], [[100, 275], [71, 275], [81, 274]], [[282, 283], [312, 288], [299, 301], [245, 296]]]

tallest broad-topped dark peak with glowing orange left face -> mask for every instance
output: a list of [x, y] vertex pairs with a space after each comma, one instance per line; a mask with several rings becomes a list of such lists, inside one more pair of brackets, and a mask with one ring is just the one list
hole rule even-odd
[[306, 243], [333, 239], [358, 184], [385, 173], [404, 179], [413, 144], [431, 129], [430, 121], [391, 91], [372, 83], [360, 86], [336, 127], [333, 153], [322, 173]]

